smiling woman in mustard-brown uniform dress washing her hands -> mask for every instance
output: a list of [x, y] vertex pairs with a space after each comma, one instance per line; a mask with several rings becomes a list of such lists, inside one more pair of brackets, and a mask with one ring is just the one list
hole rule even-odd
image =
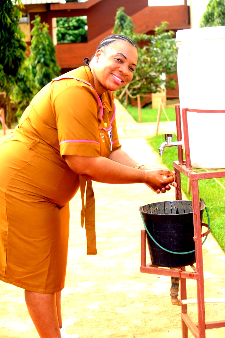
[[145, 183], [157, 193], [176, 186], [174, 172], [147, 169], [120, 149], [113, 91], [131, 81], [137, 54], [132, 40], [110, 35], [91, 60], [84, 59], [85, 66], [47, 84], [13, 134], [1, 140], [0, 279], [25, 289], [41, 338], [72, 337], [62, 328], [60, 291], [68, 202], [79, 187], [87, 254], [96, 254], [91, 180]]

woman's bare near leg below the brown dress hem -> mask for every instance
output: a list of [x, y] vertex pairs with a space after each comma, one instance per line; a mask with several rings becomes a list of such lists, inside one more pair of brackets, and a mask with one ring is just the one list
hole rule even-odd
[[40, 338], [61, 338], [56, 294], [25, 290], [25, 301]]

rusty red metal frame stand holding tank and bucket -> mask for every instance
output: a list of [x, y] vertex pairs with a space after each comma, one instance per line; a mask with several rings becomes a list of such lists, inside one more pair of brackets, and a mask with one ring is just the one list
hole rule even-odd
[[[198, 180], [207, 178], [225, 177], [225, 169], [205, 171], [204, 169], [191, 168], [189, 135], [187, 112], [199, 113], [225, 113], [225, 111], [203, 111], [184, 108], [182, 109], [182, 121], [185, 141], [185, 158], [183, 159], [182, 147], [178, 146], [178, 161], [173, 162], [175, 173], [175, 182], [178, 187], [175, 189], [176, 200], [181, 200], [181, 183], [180, 173], [186, 175], [191, 182], [192, 188], [192, 206], [193, 206], [193, 221], [194, 221], [194, 241], [195, 241], [195, 257], [196, 268], [191, 266], [193, 271], [186, 271], [185, 267], [180, 269], [169, 269], [155, 266], [153, 264], [146, 265], [146, 232], [141, 230], [141, 267], [140, 272], [159, 274], [165, 276], [180, 277], [180, 298], [187, 299], [186, 279], [194, 279], [197, 282], [197, 300], [198, 300], [198, 324], [195, 324], [188, 315], [187, 305], [181, 305], [181, 329], [182, 338], [188, 338], [188, 329], [196, 338], [205, 338], [206, 329], [225, 327], [225, 320], [205, 322], [205, 301], [204, 301], [204, 278], [203, 278], [203, 262], [202, 262], [202, 235], [201, 235], [201, 218], [199, 208], [199, 189]], [[177, 127], [177, 141], [181, 141], [181, 119], [180, 106], [176, 105], [176, 127]]]

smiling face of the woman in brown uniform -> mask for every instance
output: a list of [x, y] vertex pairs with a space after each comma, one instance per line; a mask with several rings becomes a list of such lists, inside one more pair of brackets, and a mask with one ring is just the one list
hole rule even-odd
[[115, 91], [130, 82], [137, 59], [137, 48], [126, 41], [117, 40], [105, 49], [97, 50], [90, 64], [97, 93]]

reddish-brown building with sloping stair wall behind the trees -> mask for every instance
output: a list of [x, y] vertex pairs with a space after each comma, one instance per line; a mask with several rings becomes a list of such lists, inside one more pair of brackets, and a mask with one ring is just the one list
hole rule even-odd
[[[178, 29], [190, 28], [187, 0], [184, 0], [183, 5], [156, 7], [148, 6], [148, 0], [77, 0], [66, 3], [65, 0], [22, 1], [25, 5], [24, 11], [29, 18], [27, 20], [29, 22], [21, 23], [27, 34], [27, 43], [29, 44], [29, 32], [32, 29], [30, 22], [34, 20], [35, 15], [39, 14], [41, 22], [49, 24], [61, 73], [81, 66], [83, 58], [90, 57], [99, 42], [111, 34], [119, 7], [124, 7], [124, 12], [132, 18], [138, 33], [153, 34], [154, 28], [162, 21], [169, 22], [168, 29], [174, 32]], [[57, 44], [55, 18], [79, 16], [87, 17], [87, 42]], [[176, 93], [172, 91], [174, 96], [178, 96], [177, 91], [178, 89]]]

